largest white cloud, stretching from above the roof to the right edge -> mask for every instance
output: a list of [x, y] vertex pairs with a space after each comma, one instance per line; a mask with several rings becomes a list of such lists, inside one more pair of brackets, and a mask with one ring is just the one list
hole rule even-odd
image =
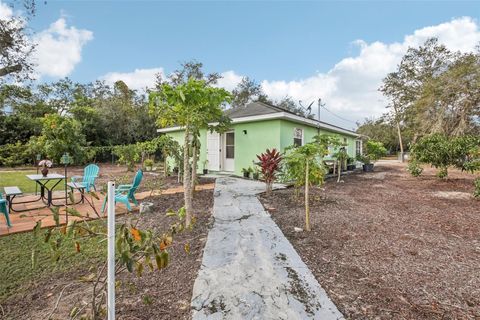
[[[380, 116], [385, 112], [384, 98], [378, 92], [382, 79], [396, 69], [408, 47], [418, 47], [431, 37], [437, 37], [453, 51], [467, 52], [473, 51], [480, 42], [480, 30], [475, 20], [463, 17], [416, 30], [405, 36], [401, 43], [357, 40], [354, 44], [359, 46], [359, 54], [339, 61], [326, 73], [295, 81], [264, 80], [262, 87], [274, 99], [287, 94], [303, 101], [321, 97], [332, 112], [353, 121]], [[327, 121], [351, 126], [331, 115], [325, 116]]]

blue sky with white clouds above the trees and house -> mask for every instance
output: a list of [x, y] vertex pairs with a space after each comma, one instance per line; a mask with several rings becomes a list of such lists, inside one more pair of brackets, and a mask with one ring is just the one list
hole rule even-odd
[[45, 43], [40, 61], [60, 61], [56, 72], [41, 62], [40, 81], [123, 77], [142, 87], [194, 58], [224, 73], [227, 88], [249, 76], [274, 98], [322, 97], [357, 121], [384, 111], [376, 89], [408, 46], [438, 36], [472, 50], [479, 14], [478, 1], [48, 1], [30, 26]]

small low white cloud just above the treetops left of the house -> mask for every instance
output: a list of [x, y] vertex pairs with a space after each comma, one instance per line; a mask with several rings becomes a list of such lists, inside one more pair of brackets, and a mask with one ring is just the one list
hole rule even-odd
[[160, 73], [162, 77], [165, 76], [163, 68], [151, 69], [135, 69], [132, 72], [109, 72], [100, 77], [108, 84], [113, 84], [118, 80], [122, 80], [130, 89], [142, 90], [145, 88], [152, 88], [155, 84], [155, 76]]

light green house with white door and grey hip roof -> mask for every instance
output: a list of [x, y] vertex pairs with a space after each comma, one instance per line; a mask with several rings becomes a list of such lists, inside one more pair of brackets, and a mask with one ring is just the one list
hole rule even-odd
[[[200, 131], [200, 172], [205, 168], [241, 175], [242, 168], [252, 166], [253, 161], [257, 161], [256, 155], [267, 148], [283, 152], [293, 144], [310, 142], [318, 133], [339, 136], [347, 144], [347, 152], [352, 157], [362, 150], [357, 133], [270, 104], [252, 102], [245, 107], [229, 109], [226, 114], [232, 120], [231, 130], [222, 134], [207, 129]], [[168, 134], [183, 145], [184, 132], [181, 127], [157, 131]]]

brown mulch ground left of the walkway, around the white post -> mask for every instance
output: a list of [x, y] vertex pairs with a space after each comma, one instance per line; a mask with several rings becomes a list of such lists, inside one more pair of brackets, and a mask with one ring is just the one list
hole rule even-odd
[[[168, 209], [183, 205], [183, 194], [162, 195], [149, 199], [154, 203], [152, 213], [144, 214], [140, 228], [167, 231], [175, 222], [166, 217]], [[212, 221], [213, 190], [197, 191], [194, 198], [197, 222], [192, 231], [177, 234], [168, 249], [170, 265], [162, 271], [145, 271], [142, 277], [125, 272], [117, 277], [117, 319], [189, 319], [193, 283], [201, 265], [203, 247]], [[189, 243], [190, 252], [185, 251]], [[2, 305], [0, 319], [47, 319], [60, 292], [62, 300], [52, 319], [68, 319], [74, 306], [88, 303], [91, 283], [82, 277], [95, 269], [71, 270], [64, 274], [52, 272], [51, 278], [32, 284], [28, 294], [13, 296]], [[67, 286], [67, 287], [66, 287]], [[3, 318], [2, 318], [3, 315]]]

